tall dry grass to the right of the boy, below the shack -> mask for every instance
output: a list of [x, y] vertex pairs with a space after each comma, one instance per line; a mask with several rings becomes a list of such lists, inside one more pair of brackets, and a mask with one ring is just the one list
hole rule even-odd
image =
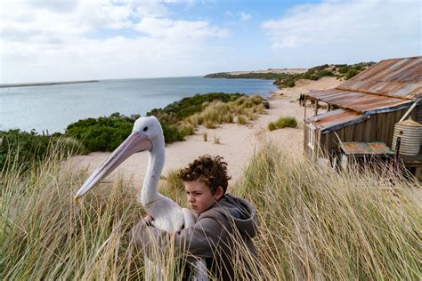
[[411, 189], [416, 180], [319, 169], [269, 145], [233, 192], [257, 206], [265, 277], [416, 280], [422, 220]]

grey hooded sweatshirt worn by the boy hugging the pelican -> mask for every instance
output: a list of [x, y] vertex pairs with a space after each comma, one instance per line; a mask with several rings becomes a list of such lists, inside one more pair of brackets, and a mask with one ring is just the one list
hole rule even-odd
[[[257, 225], [255, 207], [246, 199], [226, 194], [200, 213], [193, 227], [175, 232], [172, 241], [176, 249], [191, 254], [188, 261], [194, 259], [192, 256], [205, 258], [208, 271], [216, 279], [249, 278], [248, 269], [256, 262], [252, 238], [256, 237]], [[169, 246], [170, 234], [140, 221], [129, 238], [148, 249], [156, 243], [158, 247]]]

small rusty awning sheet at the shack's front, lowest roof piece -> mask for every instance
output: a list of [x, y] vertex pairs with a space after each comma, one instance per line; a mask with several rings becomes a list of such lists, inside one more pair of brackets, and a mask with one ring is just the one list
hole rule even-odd
[[321, 133], [333, 132], [351, 124], [360, 123], [369, 116], [357, 112], [338, 108], [317, 116], [304, 119], [305, 123], [312, 123], [321, 130]]

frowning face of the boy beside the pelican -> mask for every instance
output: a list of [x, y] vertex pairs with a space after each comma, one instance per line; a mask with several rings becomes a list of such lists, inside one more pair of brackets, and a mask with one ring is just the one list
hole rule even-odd
[[184, 181], [184, 190], [186, 191], [186, 200], [191, 207], [192, 213], [197, 214], [207, 211], [214, 205], [215, 201], [223, 196], [222, 188], [218, 188], [215, 195], [213, 195], [211, 189], [199, 180]]

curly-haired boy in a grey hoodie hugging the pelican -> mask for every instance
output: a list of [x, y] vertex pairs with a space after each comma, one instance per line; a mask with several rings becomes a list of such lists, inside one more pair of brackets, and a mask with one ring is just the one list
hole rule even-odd
[[[256, 247], [252, 241], [257, 230], [256, 209], [247, 200], [226, 194], [230, 177], [223, 157], [199, 157], [179, 176], [197, 221], [193, 227], [173, 234], [174, 246], [205, 258], [208, 272], [219, 280], [248, 277], [248, 268], [256, 261]], [[144, 218], [144, 221], [151, 220], [150, 215]], [[148, 245], [152, 237], [168, 237], [166, 231], [145, 222], [138, 223], [130, 236], [137, 245]], [[239, 262], [247, 272], [239, 273], [242, 271]]]

